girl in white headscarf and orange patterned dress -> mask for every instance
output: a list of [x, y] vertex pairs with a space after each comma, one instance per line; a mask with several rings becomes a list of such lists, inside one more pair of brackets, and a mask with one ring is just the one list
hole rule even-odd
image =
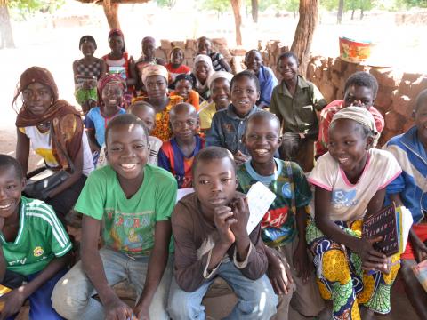
[[[172, 130], [169, 125], [169, 111], [173, 106], [182, 102], [180, 96], [167, 95], [168, 73], [165, 67], [159, 65], [148, 66], [142, 73], [142, 82], [147, 88], [146, 100], [156, 110], [156, 125], [152, 135], [162, 141], [172, 138]], [[138, 98], [137, 98], [138, 100]]]

